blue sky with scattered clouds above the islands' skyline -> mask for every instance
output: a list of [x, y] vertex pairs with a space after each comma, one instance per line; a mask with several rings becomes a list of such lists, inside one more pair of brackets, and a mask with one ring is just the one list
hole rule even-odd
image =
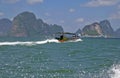
[[48, 24], [75, 32], [87, 24], [108, 19], [120, 28], [120, 0], [0, 0], [0, 19], [13, 19], [23, 11], [33, 12]]

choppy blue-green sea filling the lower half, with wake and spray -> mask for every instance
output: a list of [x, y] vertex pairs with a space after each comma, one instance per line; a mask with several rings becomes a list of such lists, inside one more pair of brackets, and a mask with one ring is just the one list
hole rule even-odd
[[0, 78], [120, 78], [120, 39], [0, 38]]

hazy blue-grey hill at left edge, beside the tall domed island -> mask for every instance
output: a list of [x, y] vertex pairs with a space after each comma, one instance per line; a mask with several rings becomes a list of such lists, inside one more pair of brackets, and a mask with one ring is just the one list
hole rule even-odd
[[12, 27], [12, 22], [9, 19], [0, 19], [0, 36], [7, 36], [8, 31]]

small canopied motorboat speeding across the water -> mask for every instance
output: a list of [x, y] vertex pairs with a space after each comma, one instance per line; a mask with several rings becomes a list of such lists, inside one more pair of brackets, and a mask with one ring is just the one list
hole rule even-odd
[[77, 39], [80, 39], [80, 37], [75, 33], [59, 32], [55, 34], [55, 39], [57, 39], [59, 42], [66, 42], [75, 41]]

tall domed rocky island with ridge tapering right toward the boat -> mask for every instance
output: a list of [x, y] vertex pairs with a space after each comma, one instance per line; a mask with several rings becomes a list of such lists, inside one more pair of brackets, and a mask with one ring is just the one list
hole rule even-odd
[[14, 37], [38, 37], [56, 32], [63, 32], [63, 28], [58, 25], [48, 25], [41, 19], [36, 19], [33, 13], [23, 12], [14, 18], [10, 34]]

